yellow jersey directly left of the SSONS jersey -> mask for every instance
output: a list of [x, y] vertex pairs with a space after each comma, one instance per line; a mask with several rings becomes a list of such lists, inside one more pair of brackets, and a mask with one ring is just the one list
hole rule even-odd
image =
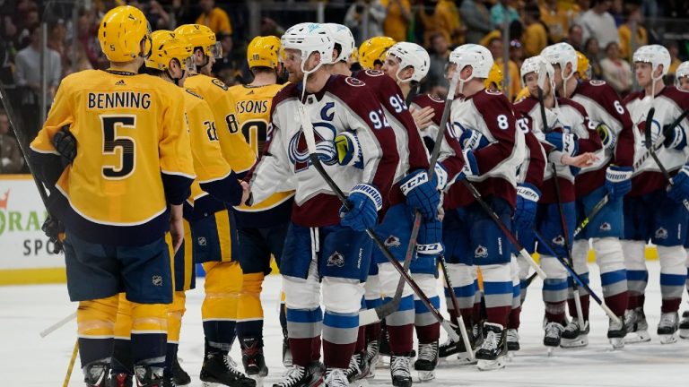
[[227, 92], [228, 87], [222, 81], [203, 74], [189, 76], [184, 85], [200, 94], [213, 110], [222, 156], [232, 170], [237, 173], [248, 171], [256, 162], [256, 154], [237, 125], [232, 125], [234, 103]]

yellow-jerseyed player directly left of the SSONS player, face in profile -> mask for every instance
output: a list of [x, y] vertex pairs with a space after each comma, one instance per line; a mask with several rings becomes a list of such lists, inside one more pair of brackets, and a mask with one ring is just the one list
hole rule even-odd
[[[188, 77], [185, 86], [203, 97], [213, 110], [223, 158], [232, 170], [240, 174], [247, 171], [254, 164], [256, 154], [236, 123], [231, 121], [235, 107], [227, 86], [208, 76], [215, 58], [221, 54], [215, 34], [205, 26], [186, 24], [178, 27], [175, 35], [188, 39], [194, 47], [197, 73]], [[228, 355], [236, 337], [242, 280], [240, 263], [235, 259], [238, 242], [234, 211], [229, 203], [210, 196], [201, 197], [194, 202], [189, 223], [192, 226], [194, 260], [203, 263], [205, 270], [205, 299], [201, 307], [205, 334], [202, 380], [205, 376], [214, 376], [226, 381], [237, 379], [240, 383], [255, 383], [240, 377], [240, 371]], [[222, 375], [217, 374], [221, 368]]]

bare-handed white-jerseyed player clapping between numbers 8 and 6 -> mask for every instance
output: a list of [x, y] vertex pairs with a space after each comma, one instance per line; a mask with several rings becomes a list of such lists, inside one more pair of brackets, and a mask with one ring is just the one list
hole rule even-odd
[[[571, 251], [568, 252], [566, 249], [571, 249], [575, 227], [574, 179], [578, 169], [594, 159], [592, 152], [599, 150], [601, 143], [592, 125], [589, 125], [589, 117], [584, 107], [571, 99], [555, 97], [555, 71], [553, 65], [544, 57], [528, 58], [521, 66], [521, 73], [531, 95], [516, 103], [514, 108], [526, 119], [524, 125], [529, 125], [542, 143], [548, 161], [536, 211], [536, 229], [551, 245], [548, 249], [539, 243], [538, 253], [541, 267], [548, 276], [543, 285], [543, 343], [546, 347], [553, 348], [561, 345], [564, 327], [567, 325], [565, 305], [568, 273], [551, 251], [561, 258], [571, 254]], [[539, 80], [543, 80], [543, 85], [539, 84]], [[538, 87], [543, 89], [542, 103], [546, 122], [543, 121], [541, 102], [536, 97]], [[560, 204], [562, 213], [558, 208]], [[562, 342], [562, 345], [564, 347], [565, 343]]]

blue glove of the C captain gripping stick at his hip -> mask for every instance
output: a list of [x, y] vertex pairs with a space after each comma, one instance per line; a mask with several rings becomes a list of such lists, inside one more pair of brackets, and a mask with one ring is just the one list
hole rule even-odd
[[378, 220], [378, 211], [383, 207], [383, 197], [373, 185], [354, 185], [347, 199], [352, 210], [340, 207], [340, 224], [355, 231], [373, 228]]

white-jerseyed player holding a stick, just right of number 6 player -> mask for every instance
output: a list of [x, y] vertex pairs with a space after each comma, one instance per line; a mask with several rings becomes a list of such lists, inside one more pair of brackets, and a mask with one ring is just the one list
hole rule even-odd
[[[689, 122], [668, 127], [688, 107], [686, 94], [674, 86], [666, 86], [663, 76], [670, 66], [667, 48], [650, 45], [634, 52], [634, 74], [642, 90], [632, 93], [624, 104], [634, 123], [635, 159], [662, 141], [657, 150], [659, 164], [670, 176], [683, 170], [689, 149], [687, 129]], [[652, 122], [648, 120], [650, 108], [655, 108]], [[647, 142], [650, 136], [650, 142]], [[684, 172], [678, 176], [682, 179]], [[646, 159], [634, 171], [632, 191], [624, 198], [624, 259], [627, 281], [630, 286], [629, 310], [624, 316], [627, 331], [634, 333], [625, 342], [648, 341], [648, 323], [643, 312], [644, 290], [648, 271], [644, 258], [646, 241], [658, 247], [660, 261], [660, 289], [662, 306], [658, 336], [662, 343], [676, 341], [679, 304], [682, 301], [686, 280], [686, 252], [684, 248], [687, 214], [676, 187], [668, 193], [668, 181], [660, 165], [653, 158]], [[684, 183], [682, 183], [684, 184]], [[677, 187], [678, 188], [678, 187]]]

